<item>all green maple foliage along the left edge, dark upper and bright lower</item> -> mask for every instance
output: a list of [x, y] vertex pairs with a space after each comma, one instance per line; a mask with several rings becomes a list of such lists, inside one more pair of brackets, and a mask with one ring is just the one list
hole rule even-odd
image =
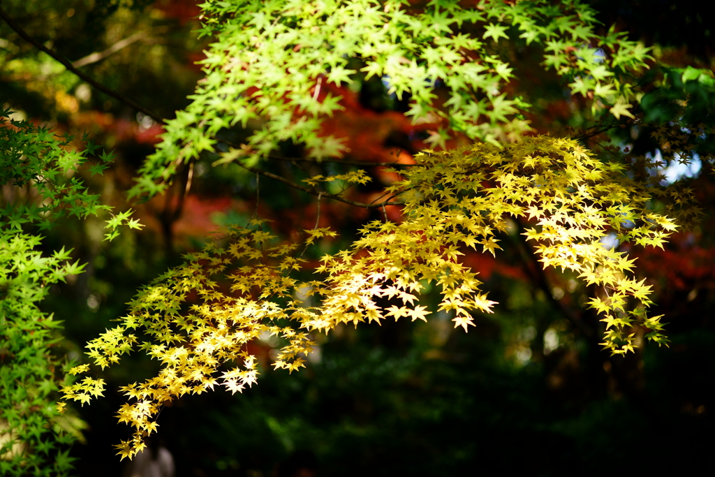
[[[51, 353], [60, 323], [38, 303], [50, 287], [82, 271], [69, 250], [44, 255], [42, 237], [32, 227], [49, 229], [60, 217], [96, 215], [112, 207], [87, 191], [79, 170], [98, 147], [78, 151], [72, 137], [56, 137], [44, 127], [8, 119], [0, 109], [0, 473], [3, 476], [63, 476], [70, 470], [71, 426], [59, 418], [54, 399], [64, 376]], [[95, 174], [112, 160], [93, 160]], [[112, 238], [127, 212], [109, 221]], [[63, 427], [66, 428], [63, 430]]]

